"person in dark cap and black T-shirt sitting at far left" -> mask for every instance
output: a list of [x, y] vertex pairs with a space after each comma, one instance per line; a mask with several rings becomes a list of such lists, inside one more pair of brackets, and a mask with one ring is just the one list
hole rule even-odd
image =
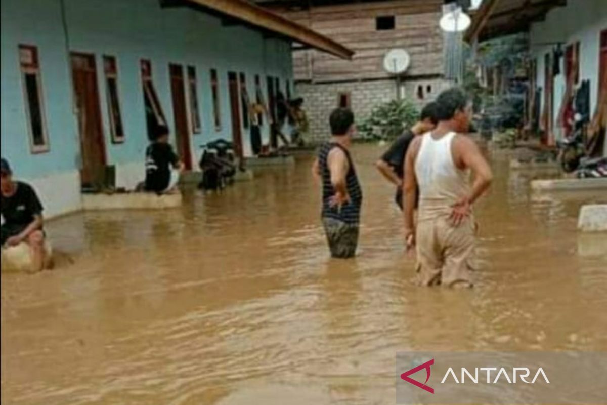
[[13, 172], [4, 158], [0, 160], [0, 175], [2, 247], [27, 243], [32, 250], [32, 272], [36, 273], [44, 268], [46, 254], [42, 203], [32, 186], [13, 180]]

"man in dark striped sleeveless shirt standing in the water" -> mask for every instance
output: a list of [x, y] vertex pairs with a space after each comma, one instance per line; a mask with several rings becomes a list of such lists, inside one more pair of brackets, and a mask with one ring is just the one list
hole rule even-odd
[[313, 173], [322, 180], [322, 223], [331, 256], [353, 257], [358, 246], [362, 190], [350, 156], [354, 114], [338, 108], [329, 118], [331, 140], [320, 147]]

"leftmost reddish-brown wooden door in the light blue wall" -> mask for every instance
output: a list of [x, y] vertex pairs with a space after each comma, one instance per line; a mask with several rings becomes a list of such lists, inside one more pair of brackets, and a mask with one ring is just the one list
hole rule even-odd
[[100, 188], [105, 182], [106, 146], [101, 126], [95, 56], [71, 53], [72, 81], [80, 135], [81, 185]]

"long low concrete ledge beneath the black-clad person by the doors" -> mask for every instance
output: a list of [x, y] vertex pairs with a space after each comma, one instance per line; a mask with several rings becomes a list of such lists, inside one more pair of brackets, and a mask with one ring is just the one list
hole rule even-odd
[[164, 209], [176, 208], [183, 203], [180, 192], [162, 194], [153, 192], [128, 192], [124, 194], [83, 194], [84, 210], [103, 209]]

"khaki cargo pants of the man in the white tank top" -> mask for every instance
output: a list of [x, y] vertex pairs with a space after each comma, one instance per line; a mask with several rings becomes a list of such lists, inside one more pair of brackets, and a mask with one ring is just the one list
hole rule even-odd
[[475, 247], [472, 216], [459, 226], [439, 216], [418, 222], [416, 233], [417, 284], [472, 287], [469, 262]]

